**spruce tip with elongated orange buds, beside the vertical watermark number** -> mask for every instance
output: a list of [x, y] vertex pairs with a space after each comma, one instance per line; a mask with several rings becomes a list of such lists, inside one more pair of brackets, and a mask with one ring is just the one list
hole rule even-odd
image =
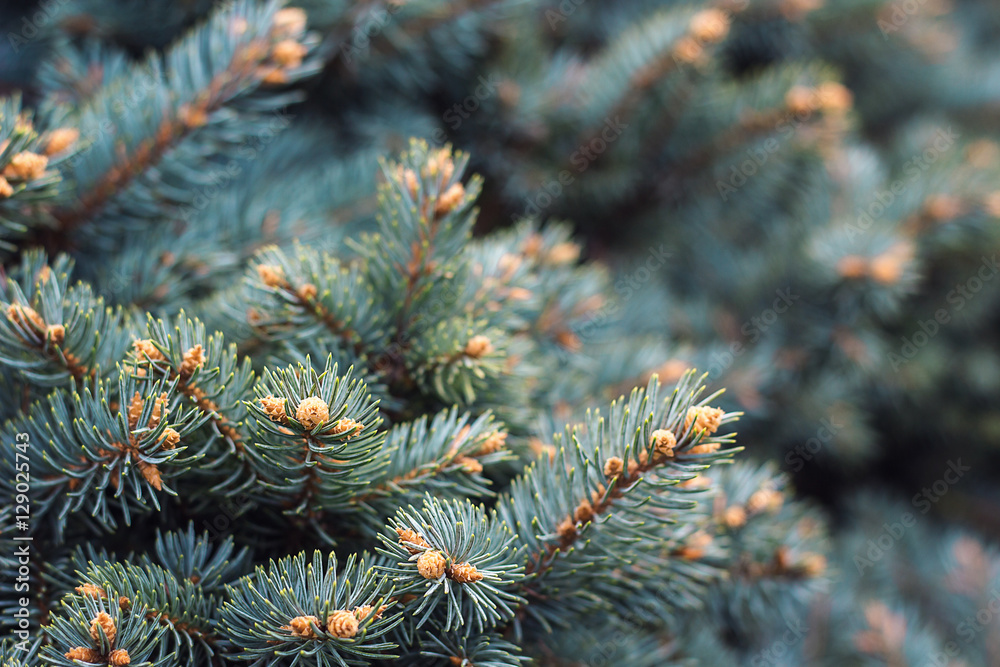
[[171, 480], [204, 455], [187, 436], [206, 417], [185, 407], [175, 384], [138, 377], [139, 370], [119, 366], [116, 383], [53, 392], [5, 425], [27, 433], [33, 450], [43, 448], [32, 453], [40, 457], [32, 464], [40, 473], [39, 509], [55, 511], [60, 532], [68, 513], [85, 505], [105, 526], [115, 526], [119, 512], [130, 524], [133, 512], [158, 509], [161, 493], [176, 495]]

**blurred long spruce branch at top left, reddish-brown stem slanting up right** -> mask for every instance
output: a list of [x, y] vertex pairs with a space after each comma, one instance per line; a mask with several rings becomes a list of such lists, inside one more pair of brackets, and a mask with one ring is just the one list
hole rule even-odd
[[[151, 55], [108, 81], [79, 112], [84, 135], [97, 146], [73, 166], [76, 202], [51, 212], [59, 230], [98, 216], [155, 217], [185, 203], [182, 186], [196, 181], [192, 169], [203, 162], [199, 147], [234, 148], [240, 135], [234, 141], [233, 130], [252, 128], [268, 106], [280, 108], [294, 98], [262, 88], [314, 70], [304, 60], [314, 40], [304, 21], [285, 20], [288, 11], [273, 2], [231, 3], [162, 58]], [[122, 101], [134, 91], [154, 97], [144, 103], [153, 113], [136, 113]], [[121, 140], [101, 130], [109, 112], [122, 116]]]

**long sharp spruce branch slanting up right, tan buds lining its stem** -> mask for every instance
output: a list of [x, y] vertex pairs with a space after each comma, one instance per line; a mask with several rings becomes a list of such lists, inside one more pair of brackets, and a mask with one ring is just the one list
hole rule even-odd
[[717, 394], [703, 392], [689, 371], [661, 399], [654, 375], [607, 417], [589, 412], [567, 427], [555, 455], [536, 460], [500, 498], [500, 517], [525, 553], [526, 611], [543, 627], [566, 623], [571, 608], [603, 604], [574, 586], [578, 571], [608, 567], [608, 559], [617, 566], [630, 545], [651, 538], [651, 526], [695, 506], [681, 482], [738, 451], [724, 448], [733, 434], [716, 435], [738, 414], [706, 405]]

